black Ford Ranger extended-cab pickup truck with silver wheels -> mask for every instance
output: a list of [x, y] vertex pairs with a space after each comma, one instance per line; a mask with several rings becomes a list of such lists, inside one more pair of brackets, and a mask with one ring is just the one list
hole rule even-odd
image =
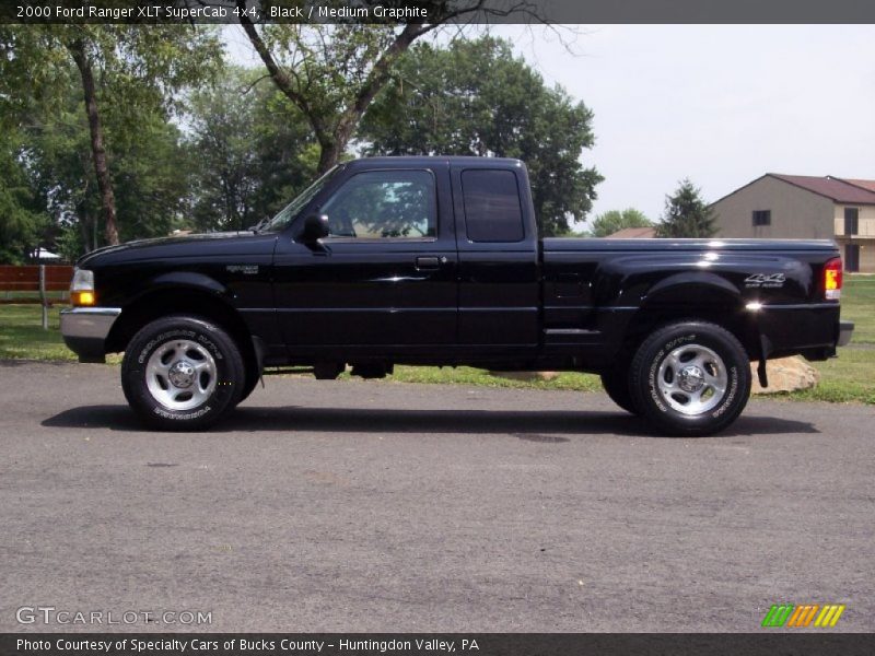
[[[594, 372], [670, 435], [726, 427], [751, 361], [851, 338], [829, 241], [539, 238], [517, 160], [341, 164], [248, 232], [149, 239], [78, 262], [61, 331], [125, 352], [149, 425], [203, 429], [265, 367], [364, 378], [395, 364]], [[581, 425], [581, 431], [586, 426]]]

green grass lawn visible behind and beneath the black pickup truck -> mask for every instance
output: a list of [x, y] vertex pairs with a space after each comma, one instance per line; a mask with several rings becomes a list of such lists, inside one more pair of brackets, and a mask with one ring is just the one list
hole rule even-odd
[[[58, 331], [61, 307], [56, 305], [49, 309], [49, 330], [43, 330], [38, 305], [0, 305], [0, 359], [75, 361]], [[875, 403], [875, 276], [845, 278], [842, 318], [854, 321], [854, 339], [850, 347], [839, 350], [838, 359], [813, 363], [820, 372], [820, 384], [814, 389], [771, 398]], [[109, 359], [109, 362], [118, 361], [115, 356]], [[549, 382], [527, 382], [500, 378], [464, 366], [398, 366], [388, 380], [580, 391], [602, 389], [598, 376], [591, 374], [563, 373]]]

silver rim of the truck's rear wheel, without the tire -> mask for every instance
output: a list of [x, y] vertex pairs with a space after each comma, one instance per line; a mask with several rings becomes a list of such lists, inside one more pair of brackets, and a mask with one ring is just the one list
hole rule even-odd
[[701, 344], [675, 349], [656, 373], [656, 387], [665, 402], [688, 415], [716, 408], [726, 396], [728, 380], [723, 359]]

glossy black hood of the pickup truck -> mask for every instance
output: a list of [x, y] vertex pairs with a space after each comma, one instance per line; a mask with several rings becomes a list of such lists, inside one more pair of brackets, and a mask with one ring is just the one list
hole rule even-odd
[[276, 233], [256, 234], [234, 231], [137, 239], [117, 246], [104, 246], [83, 255], [77, 267], [91, 268], [108, 263], [150, 259], [189, 258], [215, 255], [259, 255], [272, 251]]

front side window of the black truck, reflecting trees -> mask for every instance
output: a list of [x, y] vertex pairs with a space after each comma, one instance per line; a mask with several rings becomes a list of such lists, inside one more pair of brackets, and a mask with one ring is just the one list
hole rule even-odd
[[438, 234], [434, 177], [428, 171], [368, 171], [323, 206], [329, 237], [423, 238]]

